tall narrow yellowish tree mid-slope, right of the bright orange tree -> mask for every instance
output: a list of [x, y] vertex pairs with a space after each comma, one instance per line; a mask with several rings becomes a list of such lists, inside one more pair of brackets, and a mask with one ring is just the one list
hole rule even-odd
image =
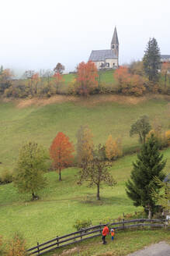
[[93, 134], [88, 126], [80, 126], [77, 133], [77, 161], [78, 165], [86, 165], [93, 158]]

